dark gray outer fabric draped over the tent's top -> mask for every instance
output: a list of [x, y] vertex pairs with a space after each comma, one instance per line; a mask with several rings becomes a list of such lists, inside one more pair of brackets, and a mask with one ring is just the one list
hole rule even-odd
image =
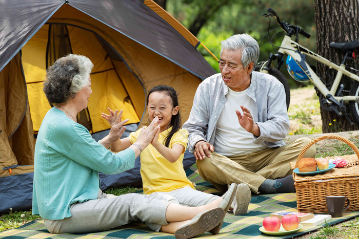
[[202, 79], [215, 74], [181, 34], [139, 0], [0, 0], [0, 71], [63, 4], [92, 16]]

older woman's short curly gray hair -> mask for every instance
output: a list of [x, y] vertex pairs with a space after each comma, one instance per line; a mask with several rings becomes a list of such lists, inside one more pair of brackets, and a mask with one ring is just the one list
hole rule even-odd
[[44, 92], [49, 102], [59, 104], [69, 97], [75, 98], [89, 82], [93, 64], [82, 55], [69, 54], [61, 57], [46, 70]]

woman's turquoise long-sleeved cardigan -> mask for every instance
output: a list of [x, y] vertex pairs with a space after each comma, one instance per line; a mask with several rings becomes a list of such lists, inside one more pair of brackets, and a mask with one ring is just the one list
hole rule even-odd
[[68, 218], [71, 204], [97, 199], [98, 171], [120, 173], [134, 162], [133, 149], [112, 153], [53, 107], [36, 139], [32, 213], [49, 220]]

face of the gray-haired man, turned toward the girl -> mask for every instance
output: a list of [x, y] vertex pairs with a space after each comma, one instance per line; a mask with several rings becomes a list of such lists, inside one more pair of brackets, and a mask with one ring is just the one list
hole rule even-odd
[[247, 68], [241, 63], [242, 53], [224, 49], [220, 58], [220, 70], [224, 83], [233, 91], [244, 91], [250, 85], [251, 62]]

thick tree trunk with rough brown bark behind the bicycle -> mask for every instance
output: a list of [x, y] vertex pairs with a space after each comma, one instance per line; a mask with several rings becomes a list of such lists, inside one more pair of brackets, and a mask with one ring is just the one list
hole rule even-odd
[[[317, 53], [328, 60], [340, 64], [345, 52], [329, 47], [330, 42], [346, 42], [359, 40], [359, 1], [358, 0], [315, 0], [316, 49]], [[359, 57], [359, 56], [358, 56]], [[359, 69], [359, 61], [348, 61], [350, 67]], [[326, 83], [333, 81], [336, 71], [318, 63], [317, 72]], [[353, 83], [351, 79], [342, 77], [345, 84], [343, 94], [348, 94]], [[348, 105], [347, 112], [348, 111]], [[323, 133], [353, 131], [357, 125], [350, 125], [345, 116], [338, 117], [335, 112], [325, 111], [321, 107]], [[352, 120], [351, 116], [349, 118]], [[353, 122], [353, 120], [352, 120]]]

